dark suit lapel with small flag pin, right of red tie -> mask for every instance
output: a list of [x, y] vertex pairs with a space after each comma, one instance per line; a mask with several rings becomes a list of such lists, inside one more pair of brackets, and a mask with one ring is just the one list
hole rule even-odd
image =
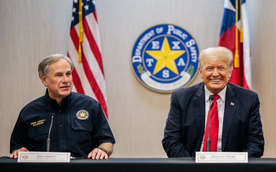
[[231, 86], [227, 84], [222, 128], [222, 151], [224, 151], [238, 104], [239, 101], [235, 98], [235, 93], [233, 92]]

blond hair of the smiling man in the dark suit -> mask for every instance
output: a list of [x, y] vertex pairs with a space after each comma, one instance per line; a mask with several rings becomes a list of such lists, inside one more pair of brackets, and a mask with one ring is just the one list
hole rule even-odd
[[202, 68], [204, 61], [208, 59], [221, 59], [228, 63], [228, 70], [233, 70], [233, 53], [225, 47], [212, 47], [202, 50], [199, 55], [199, 68]]

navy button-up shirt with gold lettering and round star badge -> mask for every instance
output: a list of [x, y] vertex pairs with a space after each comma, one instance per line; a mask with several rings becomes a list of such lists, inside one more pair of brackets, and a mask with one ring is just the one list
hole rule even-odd
[[95, 99], [71, 92], [62, 105], [46, 94], [30, 102], [20, 112], [10, 138], [10, 153], [21, 147], [46, 151], [50, 133], [51, 152], [71, 152], [73, 157], [87, 156], [101, 143], [115, 143], [104, 112]]

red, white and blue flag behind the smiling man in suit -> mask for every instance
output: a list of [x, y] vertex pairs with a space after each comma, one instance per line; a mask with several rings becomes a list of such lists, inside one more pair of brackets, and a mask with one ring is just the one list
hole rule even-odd
[[234, 55], [233, 71], [229, 82], [250, 89], [250, 43], [245, 0], [224, 1], [218, 45], [230, 49]]

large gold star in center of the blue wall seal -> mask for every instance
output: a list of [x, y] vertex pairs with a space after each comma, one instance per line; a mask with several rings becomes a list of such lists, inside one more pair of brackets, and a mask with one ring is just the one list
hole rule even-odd
[[183, 55], [185, 50], [171, 50], [167, 37], [164, 38], [161, 50], [148, 50], [146, 53], [157, 60], [153, 70], [153, 75], [168, 67], [173, 73], [178, 75], [175, 59]]

